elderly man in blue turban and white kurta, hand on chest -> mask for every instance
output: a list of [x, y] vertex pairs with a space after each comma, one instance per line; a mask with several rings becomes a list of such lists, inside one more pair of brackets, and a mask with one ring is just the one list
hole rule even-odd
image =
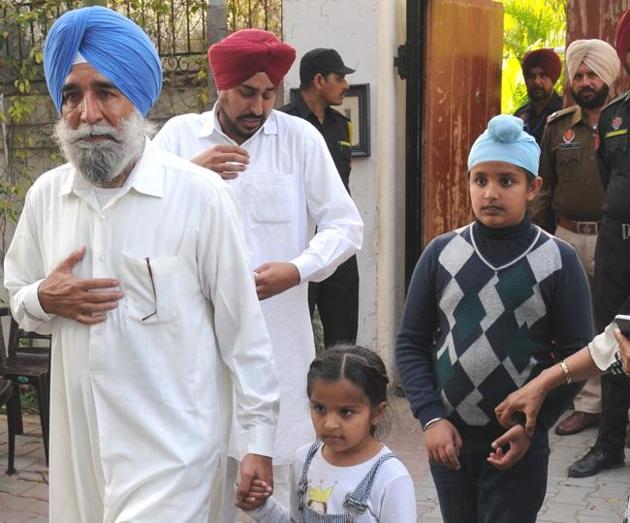
[[50, 519], [221, 521], [232, 397], [242, 492], [271, 481], [278, 402], [233, 191], [145, 137], [162, 72], [130, 20], [66, 13], [44, 69], [70, 163], [30, 189], [5, 285], [53, 334]]

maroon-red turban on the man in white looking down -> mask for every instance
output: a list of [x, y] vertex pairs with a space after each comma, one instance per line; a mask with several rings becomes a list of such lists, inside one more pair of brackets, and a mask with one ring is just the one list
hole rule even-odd
[[278, 85], [295, 60], [295, 49], [261, 29], [242, 29], [210, 46], [208, 61], [217, 89], [231, 89], [256, 73]]

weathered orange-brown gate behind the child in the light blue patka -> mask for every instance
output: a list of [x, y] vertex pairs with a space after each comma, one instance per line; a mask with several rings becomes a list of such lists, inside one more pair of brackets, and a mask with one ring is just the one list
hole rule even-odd
[[502, 54], [500, 3], [430, 2], [423, 81], [423, 245], [472, 219], [466, 161], [475, 138], [500, 111]]

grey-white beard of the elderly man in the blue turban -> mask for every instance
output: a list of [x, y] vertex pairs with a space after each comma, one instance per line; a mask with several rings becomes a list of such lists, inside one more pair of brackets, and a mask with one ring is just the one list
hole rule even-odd
[[[63, 119], [55, 127], [55, 136], [66, 159], [92, 185], [108, 187], [112, 181], [140, 158], [145, 136], [153, 126], [134, 110], [118, 127], [109, 124], [82, 124], [72, 129]], [[89, 141], [90, 136], [104, 136]]]

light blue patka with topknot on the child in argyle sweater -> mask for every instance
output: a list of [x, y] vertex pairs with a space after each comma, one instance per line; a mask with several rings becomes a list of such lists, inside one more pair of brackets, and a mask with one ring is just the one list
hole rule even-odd
[[468, 170], [481, 162], [508, 162], [538, 176], [540, 147], [530, 134], [523, 131], [523, 120], [499, 114], [488, 122], [470, 149]]

